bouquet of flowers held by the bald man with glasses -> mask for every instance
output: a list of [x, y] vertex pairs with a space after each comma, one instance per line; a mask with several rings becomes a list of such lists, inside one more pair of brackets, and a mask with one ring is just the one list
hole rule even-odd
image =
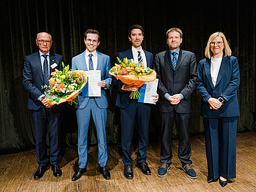
[[46, 99], [50, 105], [69, 102], [69, 104], [77, 104], [75, 98], [79, 91], [86, 85], [87, 76], [83, 70], [69, 70], [69, 65], [65, 67], [62, 62], [63, 71], [55, 69], [51, 73], [52, 77], [49, 80], [49, 85], [44, 85]]

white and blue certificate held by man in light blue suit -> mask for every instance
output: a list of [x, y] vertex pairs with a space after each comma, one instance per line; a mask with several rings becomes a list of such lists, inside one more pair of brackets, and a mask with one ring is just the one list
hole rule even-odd
[[101, 88], [97, 85], [100, 81], [100, 70], [86, 71], [87, 83], [83, 87], [83, 97], [101, 97]]

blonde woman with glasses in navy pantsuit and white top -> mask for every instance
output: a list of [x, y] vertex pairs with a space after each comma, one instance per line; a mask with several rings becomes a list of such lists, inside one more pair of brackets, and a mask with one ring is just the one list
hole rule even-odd
[[206, 58], [198, 63], [196, 87], [201, 95], [201, 116], [206, 134], [208, 183], [220, 178], [226, 186], [236, 177], [236, 129], [239, 114], [238, 60], [231, 56], [222, 32], [210, 36]]

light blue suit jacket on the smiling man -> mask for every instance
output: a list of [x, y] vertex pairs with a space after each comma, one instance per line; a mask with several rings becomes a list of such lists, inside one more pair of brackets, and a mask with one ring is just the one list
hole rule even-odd
[[[86, 64], [86, 51], [72, 58], [72, 69], [88, 71]], [[109, 74], [110, 69], [110, 57], [97, 51], [97, 70], [101, 71], [101, 81], [105, 80], [107, 83], [107, 87], [102, 88], [101, 90], [101, 97], [95, 97], [95, 102], [100, 109], [106, 109], [109, 106], [107, 103], [106, 90], [112, 83], [112, 76]], [[88, 104], [90, 97], [83, 97], [79, 94], [77, 98], [79, 102], [75, 107], [77, 109], [83, 109]]]

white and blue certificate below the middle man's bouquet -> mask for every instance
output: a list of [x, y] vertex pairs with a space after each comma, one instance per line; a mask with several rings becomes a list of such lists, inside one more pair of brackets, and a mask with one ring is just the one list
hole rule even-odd
[[158, 84], [158, 78], [154, 81], [144, 83], [140, 88], [140, 99], [137, 100], [137, 102], [154, 104], [154, 97], [152, 97], [152, 95], [156, 95]]

